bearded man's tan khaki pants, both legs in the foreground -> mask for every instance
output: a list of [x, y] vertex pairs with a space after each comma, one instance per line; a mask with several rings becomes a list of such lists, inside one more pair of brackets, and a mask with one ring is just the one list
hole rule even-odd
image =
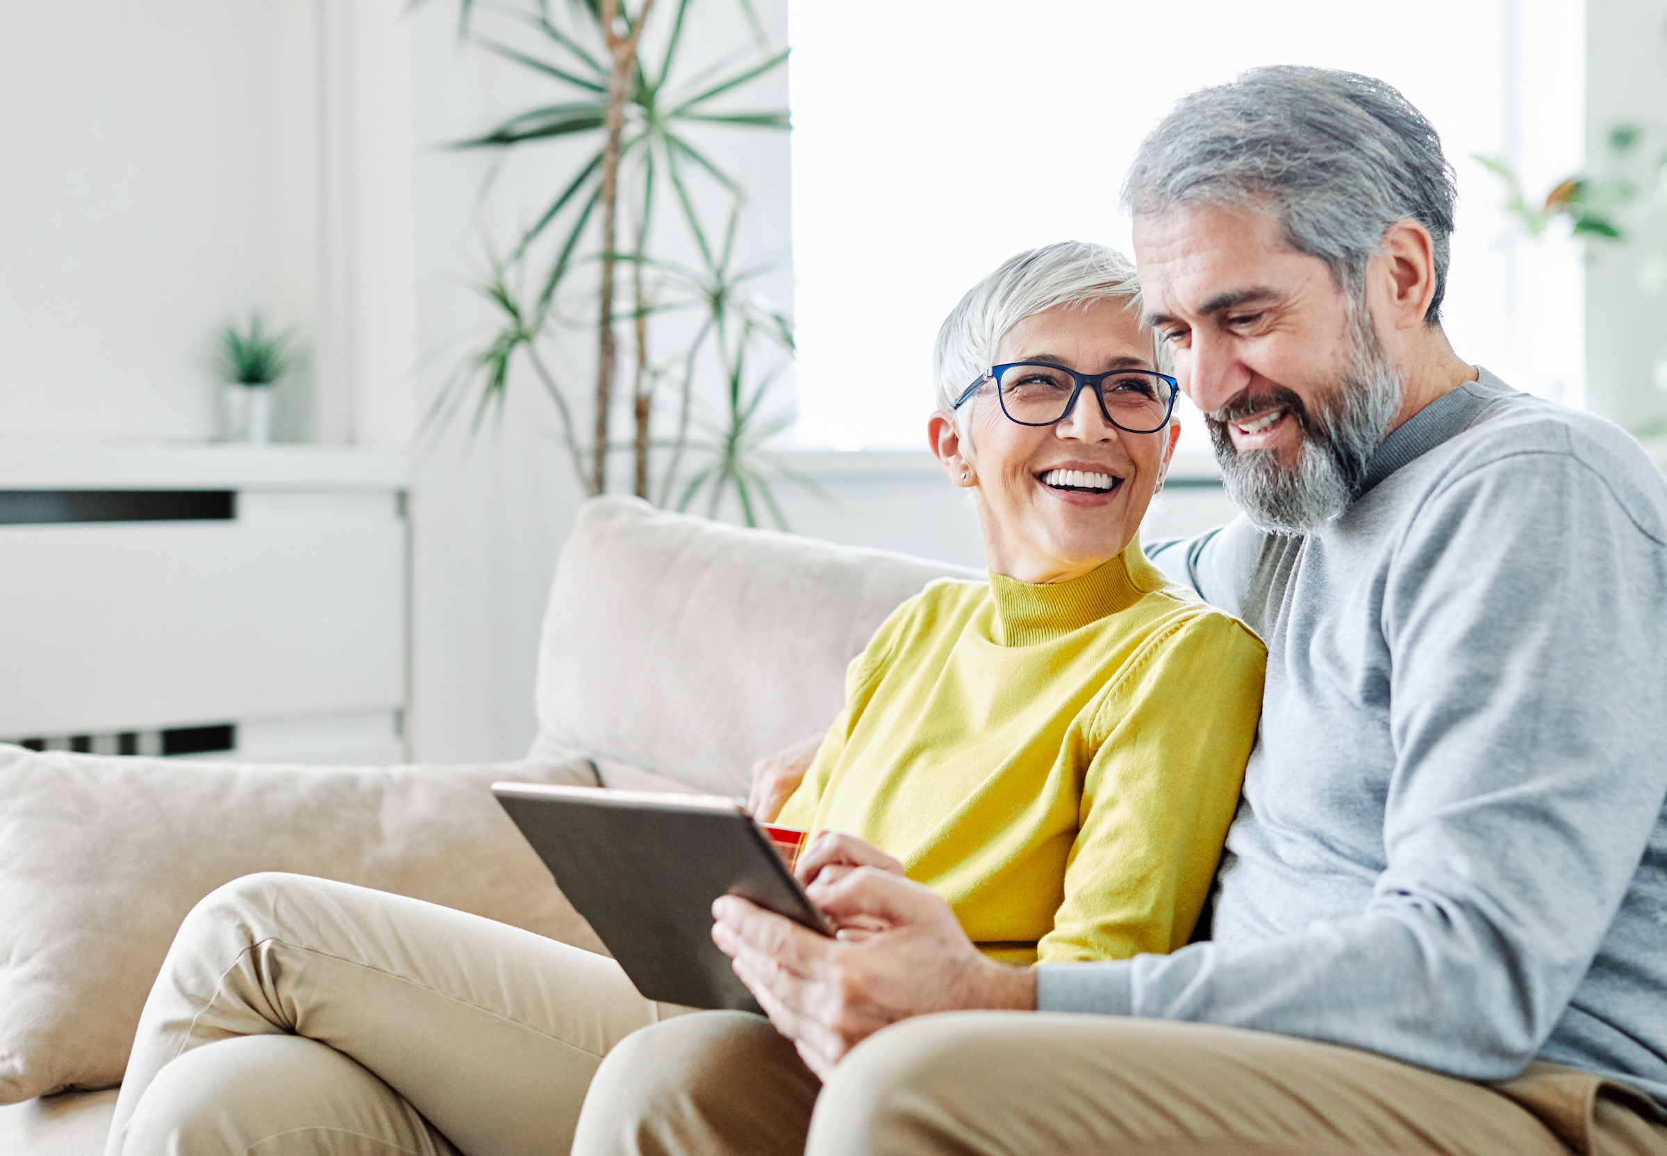
[[1119, 1016], [909, 1019], [823, 1088], [765, 1021], [713, 1011], [608, 1056], [573, 1153], [1667, 1156], [1660, 1119], [1637, 1093], [1552, 1064], [1484, 1086], [1347, 1048]]

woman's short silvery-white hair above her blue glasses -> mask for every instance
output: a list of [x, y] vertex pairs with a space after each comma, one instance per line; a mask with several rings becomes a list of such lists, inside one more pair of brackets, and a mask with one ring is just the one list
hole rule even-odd
[[1115, 249], [1062, 240], [1009, 257], [944, 319], [932, 352], [939, 409], [954, 405], [979, 374], [989, 372], [997, 344], [1025, 317], [1107, 297], [1140, 305], [1134, 262]]

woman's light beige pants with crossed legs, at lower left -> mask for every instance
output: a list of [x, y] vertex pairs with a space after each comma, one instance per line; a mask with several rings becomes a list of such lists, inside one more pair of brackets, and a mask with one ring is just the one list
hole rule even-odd
[[108, 1154], [565, 1153], [602, 1056], [680, 1011], [490, 919], [248, 876], [180, 927]]

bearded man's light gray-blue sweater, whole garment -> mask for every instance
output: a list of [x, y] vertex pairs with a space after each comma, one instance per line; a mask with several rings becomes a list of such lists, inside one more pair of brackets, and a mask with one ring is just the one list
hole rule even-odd
[[1324, 530], [1147, 552], [1269, 647], [1214, 939], [1042, 966], [1039, 1006], [1667, 1103], [1667, 482], [1637, 444], [1482, 370]]

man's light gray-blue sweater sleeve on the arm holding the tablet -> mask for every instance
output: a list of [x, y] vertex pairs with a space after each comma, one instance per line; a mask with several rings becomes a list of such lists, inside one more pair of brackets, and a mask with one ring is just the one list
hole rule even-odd
[[1044, 968], [1039, 1006], [1514, 1076], [1569, 1009], [1662, 812], [1664, 559], [1659, 529], [1572, 454], [1455, 477], [1385, 579], [1395, 764], [1387, 866], [1365, 909], [1260, 941]]

